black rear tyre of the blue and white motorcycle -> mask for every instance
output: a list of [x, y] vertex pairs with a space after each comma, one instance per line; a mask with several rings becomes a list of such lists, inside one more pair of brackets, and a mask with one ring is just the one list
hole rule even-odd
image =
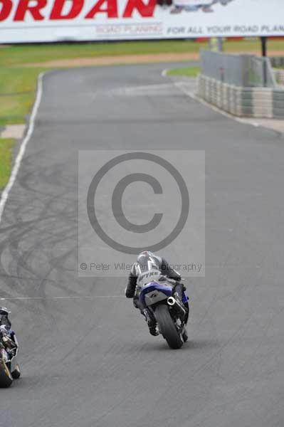
[[155, 310], [155, 317], [159, 325], [159, 330], [169, 344], [169, 347], [171, 349], [180, 349], [184, 342], [174, 326], [174, 321], [169, 314], [167, 305], [158, 305]]

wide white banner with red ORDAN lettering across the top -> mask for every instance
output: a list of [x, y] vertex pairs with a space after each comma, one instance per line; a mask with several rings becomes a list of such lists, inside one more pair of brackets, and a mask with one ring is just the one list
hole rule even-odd
[[284, 36], [284, 0], [0, 0], [0, 43]]

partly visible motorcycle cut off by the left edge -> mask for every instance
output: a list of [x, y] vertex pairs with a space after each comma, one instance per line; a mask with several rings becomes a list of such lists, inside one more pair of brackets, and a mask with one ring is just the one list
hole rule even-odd
[[21, 370], [17, 360], [19, 344], [16, 335], [6, 333], [4, 327], [0, 327], [0, 387], [11, 386], [14, 379], [21, 376]]

